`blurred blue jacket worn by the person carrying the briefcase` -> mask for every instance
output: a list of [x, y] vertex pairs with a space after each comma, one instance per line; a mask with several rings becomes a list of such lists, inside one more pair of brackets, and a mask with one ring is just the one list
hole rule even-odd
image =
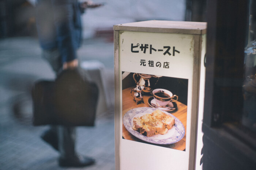
[[76, 59], [82, 40], [83, 12], [77, 0], [38, 0], [36, 20], [42, 49], [59, 49], [63, 63]]

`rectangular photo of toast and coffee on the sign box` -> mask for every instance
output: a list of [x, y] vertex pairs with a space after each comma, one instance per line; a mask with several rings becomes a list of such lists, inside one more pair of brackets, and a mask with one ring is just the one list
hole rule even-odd
[[123, 139], [185, 151], [188, 79], [122, 72]]

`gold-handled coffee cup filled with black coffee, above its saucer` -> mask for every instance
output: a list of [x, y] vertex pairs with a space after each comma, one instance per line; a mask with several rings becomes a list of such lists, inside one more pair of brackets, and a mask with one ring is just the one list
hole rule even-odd
[[178, 96], [163, 88], [157, 88], [152, 93], [158, 106], [166, 106], [168, 103], [178, 100]]

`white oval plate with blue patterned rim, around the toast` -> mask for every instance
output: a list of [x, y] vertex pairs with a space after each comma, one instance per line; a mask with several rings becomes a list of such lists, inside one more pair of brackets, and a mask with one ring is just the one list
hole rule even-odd
[[162, 111], [162, 112], [172, 116], [175, 120], [175, 125], [171, 129], [169, 129], [166, 134], [164, 135], [157, 134], [151, 137], [147, 137], [142, 135], [138, 131], [132, 129], [133, 118], [143, 116], [144, 114], [151, 114], [155, 110], [157, 109], [152, 107], [137, 107], [129, 110], [128, 112], [125, 113], [123, 117], [123, 124], [125, 128], [133, 136], [150, 143], [166, 145], [166, 144], [172, 144], [180, 141], [185, 135], [184, 125], [181, 123], [181, 121], [178, 118], [176, 118], [175, 116], [173, 116], [172, 114], [166, 111]]

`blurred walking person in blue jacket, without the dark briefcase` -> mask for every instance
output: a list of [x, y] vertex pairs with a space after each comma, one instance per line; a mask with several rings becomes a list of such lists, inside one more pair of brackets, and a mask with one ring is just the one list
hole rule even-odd
[[[78, 0], [37, 0], [36, 21], [42, 57], [46, 59], [56, 75], [61, 70], [76, 69], [76, 51], [82, 41], [80, 16], [86, 8], [101, 4], [92, 1], [79, 3]], [[92, 165], [93, 158], [79, 155], [75, 150], [75, 127], [51, 126], [41, 138], [59, 151], [59, 165], [82, 167]]]

